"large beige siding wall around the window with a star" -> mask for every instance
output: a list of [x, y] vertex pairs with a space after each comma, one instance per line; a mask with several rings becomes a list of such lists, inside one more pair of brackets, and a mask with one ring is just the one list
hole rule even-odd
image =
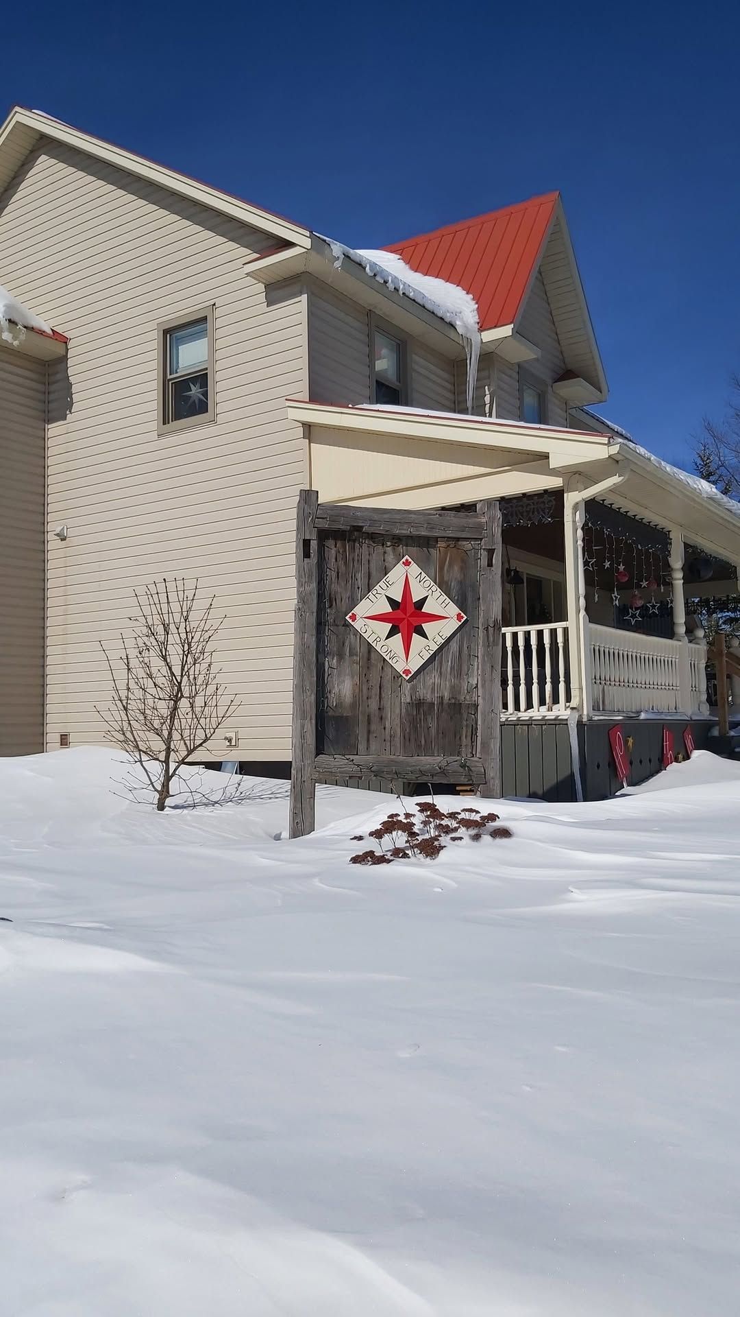
[[[294, 537], [307, 482], [305, 311], [245, 262], [273, 245], [198, 203], [42, 141], [0, 200], [0, 267], [70, 336], [50, 367], [47, 747], [99, 741], [133, 590], [199, 578], [226, 620], [219, 660], [241, 701], [238, 755], [288, 759]], [[157, 433], [157, 324], [215, 308], [216, 421]], [[217, 741], [213, 753], [226, 753]], [[230, 752], [232, 753], [232, 752]]]

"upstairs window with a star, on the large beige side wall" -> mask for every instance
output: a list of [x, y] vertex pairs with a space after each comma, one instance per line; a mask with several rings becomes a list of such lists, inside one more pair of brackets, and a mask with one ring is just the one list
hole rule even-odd
[[212, 311], [161, 325], [159, 358], [162, 428], [179, 429], [215, 420]]

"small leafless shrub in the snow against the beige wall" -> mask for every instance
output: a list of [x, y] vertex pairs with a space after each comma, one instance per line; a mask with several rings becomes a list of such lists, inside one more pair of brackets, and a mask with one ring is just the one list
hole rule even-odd
[[[198, 581], [162, 581], [134, 591], [138, 612], [122, 653], [103, 653], [113, 684], [111, 709], [100, 711], [107, 739], [138, 764], [163, 810], [179, 769], [192, 760], [238, 707], [215, 666], [224, 618], [215, 599], [203, 607]], [[129, 789], [133, 788], [129, 784]]]

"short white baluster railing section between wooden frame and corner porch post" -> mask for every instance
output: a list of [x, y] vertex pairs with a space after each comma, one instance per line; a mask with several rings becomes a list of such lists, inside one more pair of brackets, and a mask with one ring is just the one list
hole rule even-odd
[[566, 622], [502, 627], [504, 715], [566, 714]]

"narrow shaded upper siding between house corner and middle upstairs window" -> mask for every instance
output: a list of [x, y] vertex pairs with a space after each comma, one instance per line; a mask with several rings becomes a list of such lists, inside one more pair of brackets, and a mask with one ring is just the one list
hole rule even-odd
[[315, 286], [308, 288], [308, 371], [312, 402], [370, 402], [367, 311]]

